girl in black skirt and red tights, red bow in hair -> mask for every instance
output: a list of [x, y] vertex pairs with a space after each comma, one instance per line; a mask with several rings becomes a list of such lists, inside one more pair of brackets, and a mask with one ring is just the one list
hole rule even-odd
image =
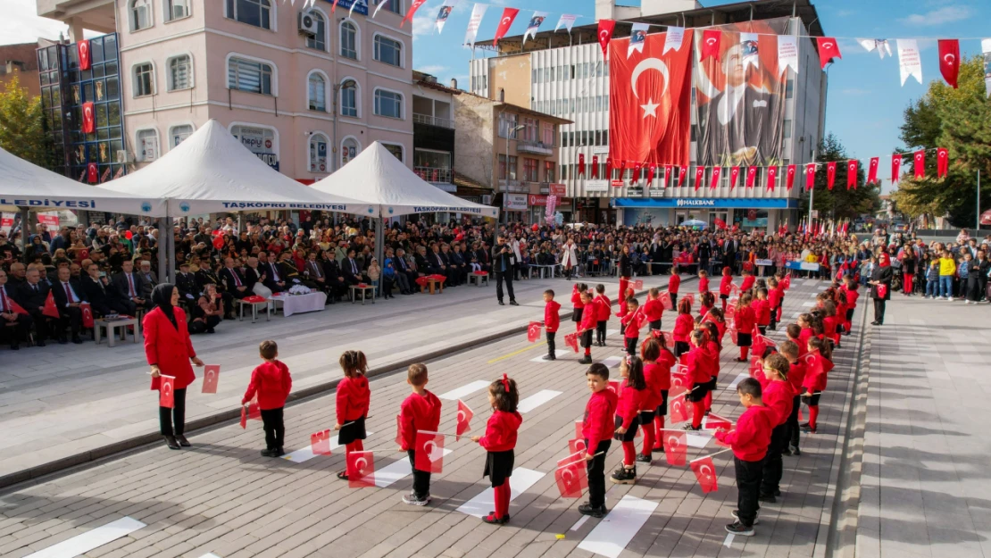
[[486, 423], [486, 435], [472, 436], [473, 442], [478, 442], [489, 452], [482, 476], [492, 481], [495, 511], [482, 518], [486, 523], [502, 525], [509, 520], [509, 477], [512, 476], [514, 461], [512, 450], [516, 447], [519, 425], [523, 423], [523, 417], [516, 411], [518, 403], [516, 381], [509, 380], [503, 374], [501, 380], [489, 386], [489, 404], [493, 407], [493, 415]]

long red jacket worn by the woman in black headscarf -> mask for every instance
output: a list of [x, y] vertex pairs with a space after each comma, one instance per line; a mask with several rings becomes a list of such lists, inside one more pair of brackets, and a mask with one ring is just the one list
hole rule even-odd
[[[156, 308], [145, 314], [142, 327], [145, 331], [145, 358], [149, 365], [159, 365], [159, 370], [165, 376], [174, 376], [172, 388], [182, 390], [196, 380], [189, 359], [196, 356], [186, 329], [185, 312], [182, 308], [173, 307], [172, 314], [175, 324], [168, 321], [162, 308]], [[176, 328], [176, 326], [178, 326]], [[152, 390], [158, 390], [162, 380], [152, 379]]]

